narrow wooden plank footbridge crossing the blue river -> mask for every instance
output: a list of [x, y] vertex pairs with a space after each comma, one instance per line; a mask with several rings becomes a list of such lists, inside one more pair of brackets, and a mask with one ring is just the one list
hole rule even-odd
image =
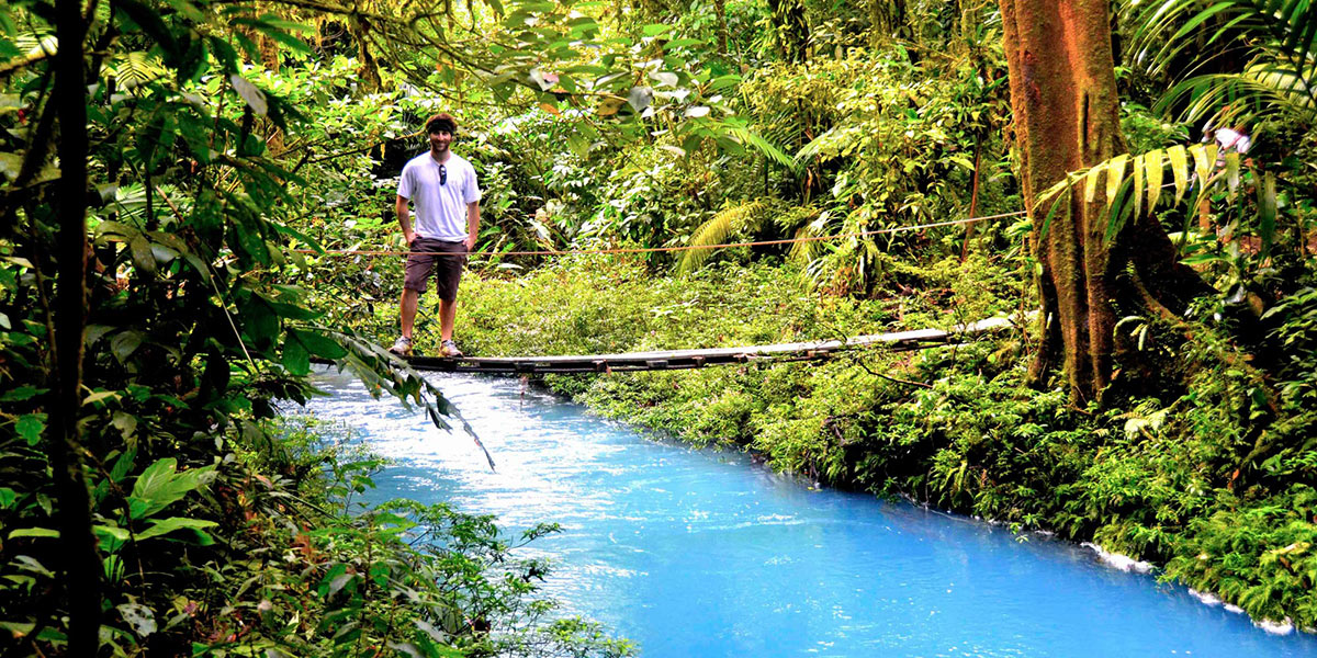
[[884, 346], [892, 351], [922, 350], [960, 343], [984, 333], [1011, 326], [1008, 317], [990, 317], [951, 330], [917, 329], [844, 341], [786, 342], [747, 347], [710, 347], [699, 350], [632, 351], [624, 354], [578, 354], [562, 357], [408, 357], [416, 370], [444, 372], [633, 372], [639, 370], [681, 370], [752, 361], [819, 361], [834, 353]]

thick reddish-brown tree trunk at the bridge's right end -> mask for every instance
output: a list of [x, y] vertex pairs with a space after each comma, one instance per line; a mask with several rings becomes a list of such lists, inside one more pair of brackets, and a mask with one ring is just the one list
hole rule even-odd
[[1050, 220], [1048, 204], [1034, 208], [1038, 193], [1067, 172], [1125, 151], [1109, 3], [1000, 3], [1015, 143], [1034, 220], [1031, 247], [1042, 265], [1044, 329], [1030, 379], [1042, 382], [1062, 365], [1075, 404], [1101, 401], [1112, 383], [1118, 309], [1166, 317], [1204, 284], [1176, 263], [1176, 250], [1155, 220], [1131, 220], [1106, 240], [1102, 199], [1084, 203], [1077, 191]]

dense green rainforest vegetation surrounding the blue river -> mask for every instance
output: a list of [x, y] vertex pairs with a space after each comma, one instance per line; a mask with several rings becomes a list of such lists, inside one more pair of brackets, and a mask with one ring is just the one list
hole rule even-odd
[[[996, 3], [437, 7], [0, 13], [5, 655], [628, 651], [535, 600], [545, 566], [515, 547], [552, 526], [508, 538], [445, 507], [362, 509], [379, 462], [279, 417], [315, 395], [319, 358], [462, 425], [379, 347], [400, 259], [325, 251], [402, 245], [395, 176], [441, 109], [486, 190], [491, 255], [473, 261], [458, 316], [478, 354], [831, 338], [1046, 307], [1039, 245], [1073, 212], [1058, 199], [1100, 205], [1117, 249], [1148, 225], [1169, 234], [1201, 279], [1172, 292], [1196, 299], [1098, 300], [1118, 321], [1092, 399], [1030, 368], [1055, 324], [1023, 321], [918, 354], [548, 384], [823, 484], [1092, 540], [1258, 619], [1317, 625], [1312, 3], [1115, 3], [1118, 141], [1134, 158], [1117, 149], [1051, 190], [1022, 183], [1038, 154], [1015, 139]], [[1187, 149], [1208, 121], [1254, 147], [1220, 166]], [[969, 216], [994, 218], [943, 224]], [[794, 237], [828, 240], [508, 254]], [[1114, 270], [1148, 292], [1134, 265]], [[419, 342], [433, 351], [431, 308]]]

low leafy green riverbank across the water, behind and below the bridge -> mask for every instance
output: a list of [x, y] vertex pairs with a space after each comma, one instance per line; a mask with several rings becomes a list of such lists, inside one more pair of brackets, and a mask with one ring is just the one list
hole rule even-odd
[[[1013, 311], [1011, 272], [986, 263], [892, 268], [886, 290], [853, 300], [805, 293], [789, 268], [728, 265], [690, 279], [643, 276], [624, 261], [578, 261], [464, 288], [460, 338], [482, 355], [627, 351], [832, 338], [947, 326]], [[474, 278], [473, 278], [474, 279]], [[947, 311], [940, 311], [947, 309]], [[1210, 328], [1171, 350], [1167, 371], [1133, 374], [1173, 397], [1108, 411], [1023, 386], [1021, 336], [918, 354], [857, 353], [823, 365], [548, 376], [605, 416], [695, 445], [753, 449], [784, 471], [877, 495], [1046, 529], [1148, 561], [1255, 620], [1317, 622], [1317, 490], [1301, 467], [1301, 413], [1268, 418], [1295, 442], [1251, 465], [1258, 422], [1238, 416], [1256, 390], [1229, 368]], [[1183, 363], [1183, 366], [1172, 366]], [[1171, 371], [1172, 368], [1173, 372]], [[1163, 392], [1164, 395], [1164, 392]]]

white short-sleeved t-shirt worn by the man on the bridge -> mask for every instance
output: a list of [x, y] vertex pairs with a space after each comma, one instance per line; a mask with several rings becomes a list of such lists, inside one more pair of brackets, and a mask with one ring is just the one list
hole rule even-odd
[[[440, 166], [446, 170], [446, 179], [440, 176]], [[481, 188], [475, 168], [465, 158], [449, 153], [441, 164], [425, 151], [403, 166], [398, 196], [416, 205], [412, 229], [417, 236], [458, 242], [466, 240], [466, 204], [481, 200]]]

